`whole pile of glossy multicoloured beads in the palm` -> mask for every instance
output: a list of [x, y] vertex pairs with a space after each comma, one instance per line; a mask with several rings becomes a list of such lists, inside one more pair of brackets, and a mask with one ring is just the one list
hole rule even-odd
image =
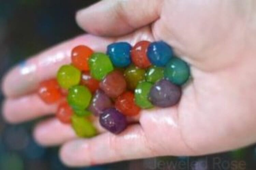
[[[97, 134], [92, 115], [118, 134], [127, 127], [127, 116], [177, 104], [181, 85], [190, 77], [187, 63], [163, 41], [140, 41], [134, 47], [113, 43], [106, 54], [81, 45], [72, 50], [71, 59], [72, 64], [59, 69], [57, 80], [42, 82], [38, 92], [47, 104], [60, 103], [57, 118], [71, 123], [80, 137]], [[63, 96], [67, 100], [60, 102]]]

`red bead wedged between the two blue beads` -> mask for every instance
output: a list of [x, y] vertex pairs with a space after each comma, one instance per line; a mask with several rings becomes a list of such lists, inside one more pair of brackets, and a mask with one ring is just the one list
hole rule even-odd
[[140, 41], [131, 50], [131, 60], [139, 68], [147, 68], [151, 65], [147, 57], [147, 48], [150, 41]]

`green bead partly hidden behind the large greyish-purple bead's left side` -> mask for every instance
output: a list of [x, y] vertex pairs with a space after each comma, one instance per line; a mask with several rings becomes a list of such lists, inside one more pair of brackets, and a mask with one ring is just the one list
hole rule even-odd
[[153, 84], [150, 82], [140, 82], [135, 89], [135, 102], [141, 108], [152, 108], [152, 103], [148, 100], [148, 95]]

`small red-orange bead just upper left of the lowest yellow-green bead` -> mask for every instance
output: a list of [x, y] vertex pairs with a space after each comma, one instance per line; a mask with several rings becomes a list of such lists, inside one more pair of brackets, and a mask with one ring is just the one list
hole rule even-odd
[[69, 106], [68, 102], [63, 102], [59, 105], [56, 117], [62, 123], [71, 123], [71, 117], [73, 115], [73, 109]]

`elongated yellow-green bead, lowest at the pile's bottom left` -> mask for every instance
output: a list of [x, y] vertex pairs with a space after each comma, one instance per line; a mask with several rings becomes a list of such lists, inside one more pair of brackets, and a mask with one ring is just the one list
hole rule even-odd
[[94, 125], [84, 116], [72, 115], [72, 127], [79, 137], [93, 137], [97, 134]]

